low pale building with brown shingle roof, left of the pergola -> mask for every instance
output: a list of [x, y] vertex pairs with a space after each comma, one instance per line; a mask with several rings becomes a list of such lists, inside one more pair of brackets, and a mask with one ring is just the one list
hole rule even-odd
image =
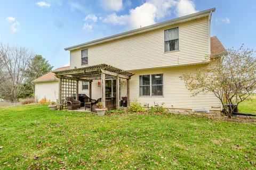
[[[60, 67], [53, 71], [68, 70], [69, 66]], [[41, 100], [46, 97], [47, 100], [56, 101], [59, 98], [59, 79], [55, 77], [53, 72], [44, 74], [43, 76], [32, 81], [35, 84], [35, 99]]]

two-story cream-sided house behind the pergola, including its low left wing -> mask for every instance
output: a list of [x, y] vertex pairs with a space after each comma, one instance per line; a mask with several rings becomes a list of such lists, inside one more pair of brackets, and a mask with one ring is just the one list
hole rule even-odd
[[[214, 66], [206, 56], [225, 52], [218, 38], [210, 37], [211, 15], [214, 11], [215, 8], [212, 8], [65, 48], [70, 51], [70, 67], [60, 68], [54, 73], [77, 78], [76, 87], [79, 94], [89, 95], [90, 91], [93, 99], [101, 98], [103, 91], [103, 96], [118, 96], [122, 99], [127, 97], [129, 89], [129, 101], [136, 100], [145, 107], [159, 105], [181, 111], [219, 112], [219, 99], [210, 92], [191, 97], [191, 92], [180, 79], [182, 73], [196, 72], [198, 69]], [[89, 76], [88, 68], [101, 64], [113, 66], [125, 71], [127, 75], [133, 75], [129, 74], [129, 81], [122, 77], [102, 79], [96, 72], [91, 72]], [[113, 72], [125, 75], [120, 70]], [[51, 79], [46, 78], [49, 75], [44, 75], [34, 80], [35, 95], [39, 99], [49, 96], [54, 100], [53, 91], [57, 94], [55, 98], [58, 98], [61, 89], [54, 74], [48, 74], [51, 75]], [[98, 77], [93, 77], [94, 74]], [[88, 81], [81, 81], [82, 78]], [[105, 82], [102, 83], [102, 80]], [[102, 84], [105, 90], [102, 89]], [[119, 92], [117, 88], [120, 89]]]

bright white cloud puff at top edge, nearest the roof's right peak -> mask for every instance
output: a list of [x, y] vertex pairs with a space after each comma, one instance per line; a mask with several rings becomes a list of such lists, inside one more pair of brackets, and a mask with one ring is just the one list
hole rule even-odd
[[177, 16], [184, 16], [196, 13], [195, 4], [189, 0], [181, 0], [176, 7]]

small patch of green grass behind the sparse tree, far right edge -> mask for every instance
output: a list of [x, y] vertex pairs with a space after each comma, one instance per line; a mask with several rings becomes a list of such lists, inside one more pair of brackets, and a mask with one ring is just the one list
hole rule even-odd
[[238, 105], [238, 112], [256, 114], [256, 95]]

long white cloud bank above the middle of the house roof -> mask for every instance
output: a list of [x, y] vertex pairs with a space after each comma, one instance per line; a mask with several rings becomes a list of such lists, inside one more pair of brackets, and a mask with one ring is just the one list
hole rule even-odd
[[171, 10], [178, 16], [197, 12], [195, 4], [189, 0], [147, 0], [142, 5], [131, 9], [129, 14], [117, 15], [113, 13], [107, 15], [103, 22], [115, 25], [127, 24], [130, 28], [136, 29], [156, 23], [156, 20], [171, 14]]

